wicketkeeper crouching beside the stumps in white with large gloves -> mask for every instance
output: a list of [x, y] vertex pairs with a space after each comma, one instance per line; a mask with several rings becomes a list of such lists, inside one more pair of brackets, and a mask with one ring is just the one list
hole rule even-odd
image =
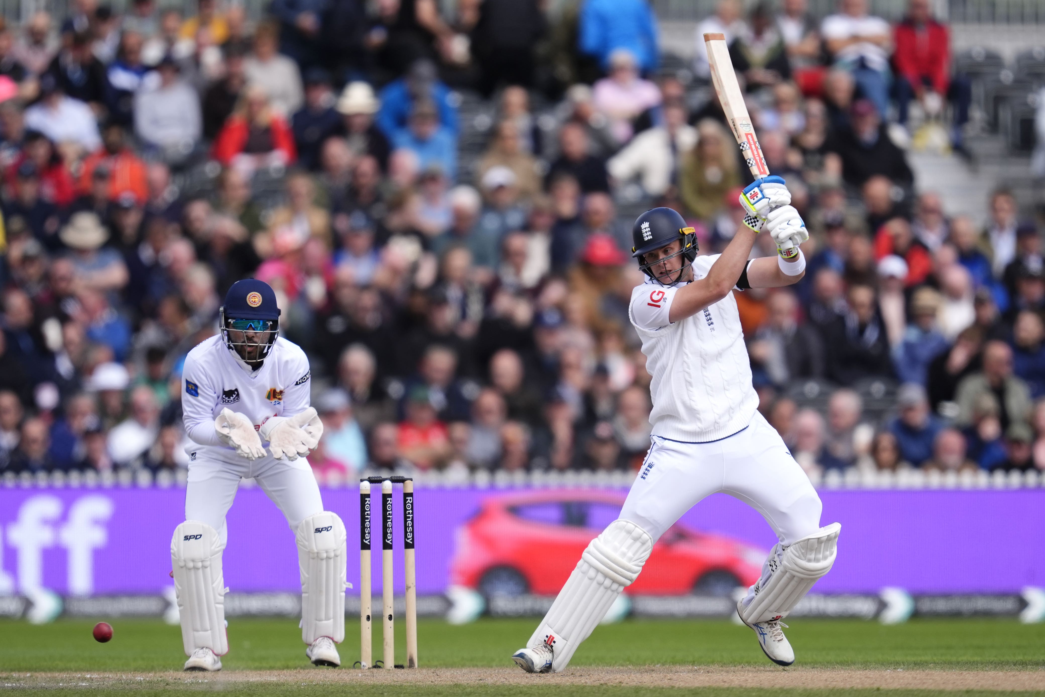
[[225, 514], [246, 478], [257, 481], [296, 534], [305, 655], [317, 666], [341, 665], [334, 643], [345, 638], [345, 525], [323, 510], [305, 459], [323, 424], [308, 404], [308, 358], [279, 336], [279, 315], [268, 283], [237, 281], [225, 296], [218, 334], [185, 359], [188, 487], [170, 561], [187, 671], [222, 670], [219, 656], [229, 651]]

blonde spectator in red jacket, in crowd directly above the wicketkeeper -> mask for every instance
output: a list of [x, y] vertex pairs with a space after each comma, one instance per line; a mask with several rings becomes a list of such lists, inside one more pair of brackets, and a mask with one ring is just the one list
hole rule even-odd
[[294, 134], [269, 106], [260, 87], [247, 87], [235, 111], [214, 139], [214, 159], [254, 171], [259, 166], [291, 164], [297, 158]]

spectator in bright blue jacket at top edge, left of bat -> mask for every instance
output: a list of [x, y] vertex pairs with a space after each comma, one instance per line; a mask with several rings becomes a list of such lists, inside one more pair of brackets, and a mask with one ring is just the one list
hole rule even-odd
[[587, 0], [581, 8], [578, 30], [581, 53], [609, 68], [609, 54], [626, 48], [644, 73], [657, 66], [657, 26], [653, 9], [646, 0]]

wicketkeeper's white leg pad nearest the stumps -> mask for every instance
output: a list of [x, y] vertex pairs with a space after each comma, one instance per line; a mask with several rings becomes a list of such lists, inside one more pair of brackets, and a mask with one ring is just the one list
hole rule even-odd
[[298, 526], [298, 562], [301, 566], [301, 638], [311, 644], [329, 636], [345, 641], [345, 588], [347, 587], [345, 524], [336, 513], [324, 511]]

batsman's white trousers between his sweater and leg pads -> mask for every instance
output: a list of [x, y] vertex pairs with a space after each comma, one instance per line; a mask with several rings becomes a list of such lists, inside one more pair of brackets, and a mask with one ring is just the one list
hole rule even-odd
[[758, 412], [746, 428], [720, 440], [683, 443], [653, 436], [652, 441], [621, 519], [642, 527], [654, 542], [719, 491], [761, 513], [782, 544], [819, 530], [822, 505], [816, 489]]

